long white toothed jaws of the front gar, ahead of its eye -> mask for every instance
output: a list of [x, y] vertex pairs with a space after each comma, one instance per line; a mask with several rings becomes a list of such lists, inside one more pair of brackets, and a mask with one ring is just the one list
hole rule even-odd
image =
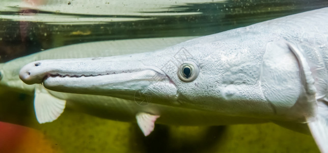
[[153, 98], [177, 99], [177, 88], [164, 71], [128, 56], [36, 61], [21, 68], [19, 77], [59, 92], [131, 100], [136, 92], [151, 91]]

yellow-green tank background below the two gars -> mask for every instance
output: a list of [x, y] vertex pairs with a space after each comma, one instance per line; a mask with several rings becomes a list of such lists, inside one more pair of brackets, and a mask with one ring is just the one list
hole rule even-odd
[[[0, 120], [33, 127], [52, 140], [54, 152], [319, 152], [309, 135], [274, 123], [229, 126], [155, 125], [144, 137], [136, 123], [72, 110], [39, 124], [33, 97], [0, 89]], [[42, 146], [38, 146], [42, 147]]]

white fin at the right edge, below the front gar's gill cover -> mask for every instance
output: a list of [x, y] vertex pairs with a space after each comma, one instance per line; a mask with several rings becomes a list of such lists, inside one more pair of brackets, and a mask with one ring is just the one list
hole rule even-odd
[[318, 103], [318, 113], [315, 119], [308, 123], [312, 136], [321, 152], [328, 152], [328, 106]]

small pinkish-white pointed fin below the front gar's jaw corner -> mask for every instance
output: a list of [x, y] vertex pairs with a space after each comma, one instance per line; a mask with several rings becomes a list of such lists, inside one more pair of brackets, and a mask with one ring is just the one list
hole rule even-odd
[[144, 112], [138, 113], [135, 116], [136, 122], [145, 136], [148, 136], [151, 132], [153, 132], [155, 121], [158, 117], [158, 115], [151, 115]]

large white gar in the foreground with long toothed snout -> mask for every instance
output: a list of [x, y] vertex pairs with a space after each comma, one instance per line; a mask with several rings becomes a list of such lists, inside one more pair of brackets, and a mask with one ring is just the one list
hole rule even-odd
[[[166, 124], [271, 120], [290, 129], [308, 124], [320, 150], [328, 152], [327, 67], [328, 8], [322, 8], [156, 52], [36, 61], [20, 70], [20, 78], [53, 91], [131, 100], [122, 103], [129, 108], [95, 100], [78, 105], [130, 117], [125, 120], [136, 115], [145, 135], [159, 116], [156, 122]], [[137, 107], [133, 100], [143, 100], [142, 94], [150, 104]], [[41, 122], [56, 119], [65, 105], [43, 102], [35, 107]], [[172, 118], [174, 111], [179, 113]], [[204, 116], [190, 118], [193, 111]]]

